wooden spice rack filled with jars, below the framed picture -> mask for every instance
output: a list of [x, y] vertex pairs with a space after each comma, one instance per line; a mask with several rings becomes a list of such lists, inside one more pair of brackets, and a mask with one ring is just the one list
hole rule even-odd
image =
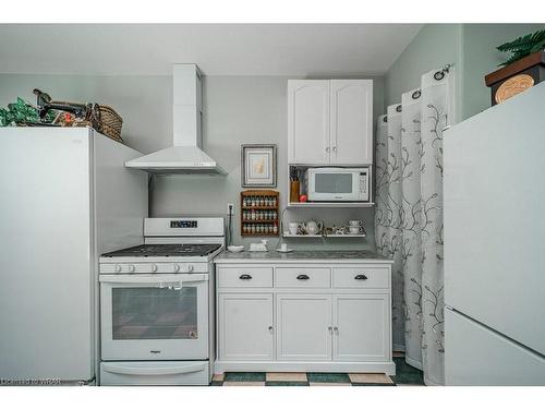
[[278, 236], [280, 232], [279, 204], [280, 204], [279, 193], [277, 191], [274, 190], [242, 191], [240, 194], [241, 236], [245, 237]]

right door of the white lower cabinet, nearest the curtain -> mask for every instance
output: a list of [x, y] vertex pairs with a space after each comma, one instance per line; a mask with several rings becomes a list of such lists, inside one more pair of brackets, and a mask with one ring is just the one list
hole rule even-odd
[[334, 361], [390, 359], [388, 294], [334, 296]]

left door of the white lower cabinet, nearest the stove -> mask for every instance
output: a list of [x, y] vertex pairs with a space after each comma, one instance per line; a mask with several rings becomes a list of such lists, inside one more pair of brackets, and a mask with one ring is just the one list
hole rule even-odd
[[218, 296], [219, 359], [272, 360], [272, 294]]

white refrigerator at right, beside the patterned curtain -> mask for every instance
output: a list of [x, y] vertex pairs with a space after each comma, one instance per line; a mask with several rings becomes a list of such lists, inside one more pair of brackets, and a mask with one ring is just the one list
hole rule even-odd
[[447, 385], [545, 385], [545, 83], [444, 133]]

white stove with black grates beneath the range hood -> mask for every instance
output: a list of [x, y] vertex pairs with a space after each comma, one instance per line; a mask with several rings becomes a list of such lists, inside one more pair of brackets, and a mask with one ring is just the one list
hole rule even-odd
[[144, 244], [100, 257], [100, 384], [207, 385], [223, 218], [144, 220]]

